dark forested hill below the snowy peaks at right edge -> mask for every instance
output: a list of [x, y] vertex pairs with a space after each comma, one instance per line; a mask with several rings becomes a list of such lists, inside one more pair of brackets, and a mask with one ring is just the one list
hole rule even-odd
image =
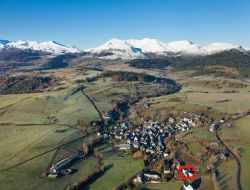
[[206, 56], [180, 56], [165, 59], [135, 59], [128, 61], [132, 67], [147, 69], [193, 70], [194, 75], [214, 74], [226, 77], [250, 77], [250, 54], [230, 50]]

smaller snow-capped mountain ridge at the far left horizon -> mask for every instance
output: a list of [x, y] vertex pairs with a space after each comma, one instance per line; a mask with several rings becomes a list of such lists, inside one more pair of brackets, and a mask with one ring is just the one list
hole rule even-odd
[[36, 42], [36, 41], [8, 41], [0, 40], [1, 50], [32, 50], [42, 51], [50, 54], [63, 54], [63, 53], [80, 53], [81, 51], [75, 47], [59, 44], [55, 41]]

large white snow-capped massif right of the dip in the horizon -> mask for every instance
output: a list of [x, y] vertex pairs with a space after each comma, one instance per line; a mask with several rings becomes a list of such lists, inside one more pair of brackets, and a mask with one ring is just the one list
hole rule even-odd
[[174, 41], [164, 43], [155, 39], [144, 38], [142, 40], [119, 40], [112, 39], [103, 45], [85, 50], [92, 56], [106, 59], [135, 59], [155, 56], [204, 56], [223, 51], [236, 49], [246, 51], [242, 46], [228, 43], [211, 43], [207, 46], [200, 46], [190, 41]]

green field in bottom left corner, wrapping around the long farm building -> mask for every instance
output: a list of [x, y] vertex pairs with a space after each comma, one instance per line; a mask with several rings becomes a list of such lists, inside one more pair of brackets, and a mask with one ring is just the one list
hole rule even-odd
[[73, 168], [77, 169], [78, 172], [72, 175], [58, 179], [43, 179], [39, 175], [44, 172], [53, 153], [46, 154], [7, 172], [1, 172], [1, 189], [66, 189], [70, 184], [91, 174], [93, 169], [98, 166], [98, 160], [91, 157], [74, 165]]

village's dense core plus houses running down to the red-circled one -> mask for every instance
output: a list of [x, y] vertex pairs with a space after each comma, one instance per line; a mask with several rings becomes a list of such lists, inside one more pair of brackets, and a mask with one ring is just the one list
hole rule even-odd
[[[131, 152], [134, 158], [144, 160], [145, 169], [133, 178], [133, 183], [159, 183], [170, 181], [173, 178], [180, 180], [178, 171], [185, 162], [173, 159], [171, 150], [167, 148], [169, 141], [176, 141], [176, 134], [188, 133], [198, 127], [202, 115], [185, 113], [185, 116], [177, 121], [169, 117], [163, 124], [155, 120], [146, 120], [142, 125], [134, 125], [131, 122], [120, 122], [108, 127], [97, 135], [113, 142], [115, 151]], [[154, 167], [161, 163], [161, 172]], [[183, 170], [185, 176], [192, 176], [192, 170]], [[191, 189], [189, 183], [183, 186]]]

